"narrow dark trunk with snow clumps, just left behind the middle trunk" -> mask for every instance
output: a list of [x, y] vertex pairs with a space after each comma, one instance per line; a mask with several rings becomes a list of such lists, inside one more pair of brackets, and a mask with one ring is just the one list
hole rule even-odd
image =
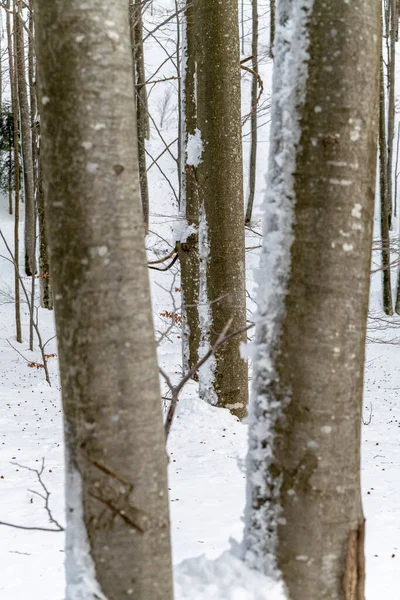
[[183, 79], [183, 147], [184, 168], [182, 173], [181, 212], [186, 221], [186, 232], [178, 242], [179, 260], [181, 264], [182, 288], [182, 325], [183, 325], [183, 365], [184, 370], [191, 369], [199, 360], [200, 346], [199, 328], [199, 192], [196, 167], [190, 162], [188, 143], [196, 135], [196, 34], [194, 25], [193, 2], [187, 0], [185, 10], [185, 36], [182, 60]]

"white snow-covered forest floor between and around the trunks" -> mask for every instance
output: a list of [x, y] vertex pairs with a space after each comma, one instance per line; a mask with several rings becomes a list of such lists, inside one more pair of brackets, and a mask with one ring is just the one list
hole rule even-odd
[[[0, 223], [12, 239], [12, 218], [0, 200]], [[22, 230], [21, 230], [22, 234]], [[64, 524], [63, 444], [57, 357], [49, 359], [51, 387], [37, 349], [28, 350], [28, 310], [22, 304], [24, 342], [14, 332], [13, 266], [0, 243], [0, 521], [26, 527], [52, 527], [37, 493], [35, 472], [45, 461], [43, 481], [51, 492], [55, 519]], [[171, 279], [171, 275], [168, 275]], [[28, 283], [28, 278], [27, 278]], [[162, 287], [160, 287], [160, 285]], [[170, 296], [171, 285], [154, 281], [155, 322]], [[367, 519], [367, 600], [399, 600], [400, 584], [400, 323], [384, 318], [379, 305], [379, 275], [371, 291], [362, 426], [362, 486]], [[154, 294], [154, 289], [153, 289]], [[164, 294], [164, 296], [163, 296]], [[171, 299], [169, 298], [169, 302]], [[168, 305], [169, 306], [169, 305]], [[39, 309], [44, 340], [54, 335], [53, 315]], [[159, 324], [160, 325], [160, 324]], [[400, 331], [400, 330], [399, 330]], [[179, 378], [179, 328], [160, 347], [164, 368]], [[13, 347], [14, 348], [13, 348]], [[35, 348], [37, 344], [35, 342]], [[18, 352], [20, 353], [18, 353]], [[56, 353], [55, 340], [47, 346]], [[165, 390], [164, 390], [165, 393]], [[245, 504], [246, 424], [228, 411], [197, 398], [195, 384], [185, 389], [168, 450], [172, 544], [179, 600], [273, 600], [278, 589], [241, 570], [225, 554], [242, 537]], [[1, 527], [0, 597], [4, 600], [64, 598], [64, 534]], [[197, 560], [189, 560], [194, 559]], [[182, 561], [186, 561], [182, 563]], [[189, 591], [190, 590], [190, 591]], [[258, 591], [257, 591], [258, 590]]]

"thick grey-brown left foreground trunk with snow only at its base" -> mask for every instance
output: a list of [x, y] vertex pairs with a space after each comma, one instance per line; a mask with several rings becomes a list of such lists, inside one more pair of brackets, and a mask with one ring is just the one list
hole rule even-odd
[[67, 598], [171, 600], [128, 3], [36, 1], [67, 446]]

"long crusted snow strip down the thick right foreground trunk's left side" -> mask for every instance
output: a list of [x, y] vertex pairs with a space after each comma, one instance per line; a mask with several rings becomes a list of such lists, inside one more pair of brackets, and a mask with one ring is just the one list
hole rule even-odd
[[[275, 431], [283, 422], [290, 390], [279, 388], [276, 350], [285, 314], [294, 224], [294, 172], [300, 142], [299, 107], [308, 76], [308, 23], [314, 0], [277, 5], [271, 149], [264, 200], [264, 242], [258, 275], [253, 392], [249, 407], [245, 558], [279, 578], [277, 527], [282, 519], [280, 467], [274, 457]], [[272, 473], [273, 471], [273, 473]]]

